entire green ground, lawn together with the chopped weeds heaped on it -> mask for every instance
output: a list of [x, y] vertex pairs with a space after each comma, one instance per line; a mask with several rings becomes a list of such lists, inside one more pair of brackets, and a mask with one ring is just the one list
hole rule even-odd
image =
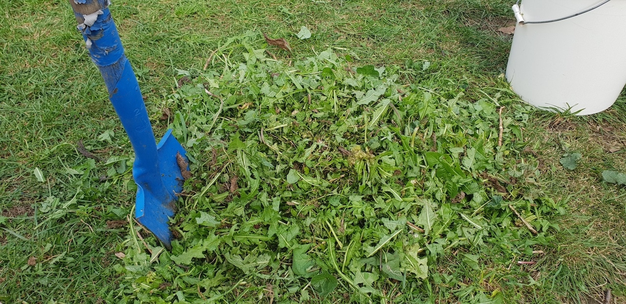
[[521, 102], [510, 5], [114, 1], [190, 158], [167, 251], [69, 4], [0, 1], [0, 302], [625, 302], [626, 98]]

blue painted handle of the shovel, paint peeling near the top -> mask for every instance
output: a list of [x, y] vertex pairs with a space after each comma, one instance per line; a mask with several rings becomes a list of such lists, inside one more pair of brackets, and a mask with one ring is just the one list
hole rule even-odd
[[[74, 8], [74, 14], [79, 22], [81, 18], [85, 21], [79, 24], [78, 29], [85, 38], [91, 60], [100, 69], [109, 92], [109, 99], [135, 150], [133, 178], [138, 186], [144, 191], [149, 191], [157, 200], [170, 201], [173, 195], [165, 190], [161, 180], [156, 140], [148, 112], [133, 68], [124, 55], [124, 48], [111, 18], [108, 2], [105, 0], [80, 2], [85, 6], [101, 8], [89, 15], [83, 15]], [[90, 19], [94, 17], [95, 21], [90, 24]]]

